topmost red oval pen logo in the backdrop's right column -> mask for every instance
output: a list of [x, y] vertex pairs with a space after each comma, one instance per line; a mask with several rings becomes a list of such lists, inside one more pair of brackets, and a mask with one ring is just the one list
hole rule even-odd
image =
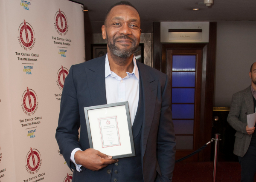
[[54, 20], [55, 30], [58, 32], [58, 34], [66, 35], [68, 31], [68, 25], [67, 17], [64, 12], [59, 9], [59, 11], [57, 11], [55, 14]]

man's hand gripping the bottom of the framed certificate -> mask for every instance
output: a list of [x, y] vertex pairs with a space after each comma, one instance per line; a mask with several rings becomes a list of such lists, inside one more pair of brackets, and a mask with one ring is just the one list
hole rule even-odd
[[118, 159], [112, 159], [112, 156], [102, 154], [93, 148], [88, 148], [85, 151], [76, 151], [74, 157], [76, 164], [82, 165], [92, 171], [98, 171], [109, 164], [118, 162]]

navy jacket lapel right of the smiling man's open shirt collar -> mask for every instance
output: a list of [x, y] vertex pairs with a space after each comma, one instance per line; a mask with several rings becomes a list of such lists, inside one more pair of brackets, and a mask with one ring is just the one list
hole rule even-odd
[[141, 65], [141, 63], [137, 62], [137, 66], [140, 71], [143, 89], [144, 117], [141, 134], [141, 155], [144, 156], [148, 135], [154, 117], [158, 82], [145, 68], [142, 68], [144, 65]]

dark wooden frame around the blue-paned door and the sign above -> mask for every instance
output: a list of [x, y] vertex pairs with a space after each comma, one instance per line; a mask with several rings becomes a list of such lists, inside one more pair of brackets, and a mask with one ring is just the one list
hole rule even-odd
[[[209, 43], [160, 43], [160, 22], [153, 23], [153, 67], [166, 73], [167, 49], [202, 49], [201, 116], [198, 148], [212, 138], [212, 108], [216, 58], [217, 23], [209, 23]], [[207, 102], [206, 102], [207, 101]], [[198, 162], [210, 161], [211, 148], [198, 155]]]

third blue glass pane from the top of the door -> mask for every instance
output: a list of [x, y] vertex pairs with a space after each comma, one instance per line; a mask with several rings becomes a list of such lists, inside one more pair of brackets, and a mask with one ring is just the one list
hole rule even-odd
[[194, 103], [195, 88], [172, 88], [172, 103]]

